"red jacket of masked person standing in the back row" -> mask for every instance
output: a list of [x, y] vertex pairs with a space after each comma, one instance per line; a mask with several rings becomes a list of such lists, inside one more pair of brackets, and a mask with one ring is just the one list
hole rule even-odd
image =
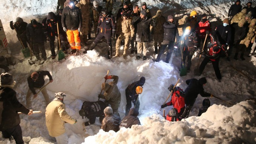
[[205, 23], [199, 22], [196, 27], [196, 33], [198, 34], [199, 38], [205, 38], [206, 37], [206, 31], [211, 31], [211, 24], [207, 20]]

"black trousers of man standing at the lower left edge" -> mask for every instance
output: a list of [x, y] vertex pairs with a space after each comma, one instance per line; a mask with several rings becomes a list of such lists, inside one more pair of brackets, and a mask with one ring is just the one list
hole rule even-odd
[[2, 131], [2, 134], [4, 138], [10, 138], [11, 136], [13, 136], [16, 144], [24, 144], [24, 141], [22, 139], [22, 129], [20, 125]]

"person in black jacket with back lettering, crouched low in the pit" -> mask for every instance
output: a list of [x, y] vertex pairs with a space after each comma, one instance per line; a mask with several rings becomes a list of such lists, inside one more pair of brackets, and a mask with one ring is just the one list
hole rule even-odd
[[81, 110], [79, 110], [79, 115], [83, 117], [87, 117], [89, 121], [83, 123], [84, 126], [90, 126], [95, 123], [96, 117], [99, 117], [99, 122], [102, 123], [102, 120], [105, 117], [104, 109], [106, 108], [106, 104], [101, 100], [97, 102], [88, 102], [84, 101]]

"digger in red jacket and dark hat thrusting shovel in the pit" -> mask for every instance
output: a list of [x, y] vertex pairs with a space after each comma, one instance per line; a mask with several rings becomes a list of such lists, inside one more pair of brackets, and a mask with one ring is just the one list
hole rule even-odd
[[173, 88], [173, 87], [174, 87], [173, 84], [171, 84], [168, 87], [168, 90], [170, 90], [170, 92], [173, 90], [173, 95], [171, 96], [171, 101], [161, 105], [161, 108], [163, 109], [164, 107], [173, 105], [173, 107], [178, 110], [177, 115], [178, 115], [178, 117], [180, 117], [181, 114], [183, 114], [183, 112], [185, 110], [185, 100], [184, 100], [185, 93], [183, 92], [183, 89], [181, 89], [180, 87], [178, 87], [178, 86], [175, 88]]

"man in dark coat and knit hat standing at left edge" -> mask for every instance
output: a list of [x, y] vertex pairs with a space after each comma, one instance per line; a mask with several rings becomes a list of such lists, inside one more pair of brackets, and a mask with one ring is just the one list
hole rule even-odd
[[16, 82], [10, 73], [2, 73], [0, 79], [0, 131], [2, 137], [9, 138], [9, 140], [12, 140], [13, 137], [16, 144], [24, 144], [20, 116], [17, 112], [31, 115], [33, 110], [27, 109], [17, 100], [16, 92], [13, 90]]

